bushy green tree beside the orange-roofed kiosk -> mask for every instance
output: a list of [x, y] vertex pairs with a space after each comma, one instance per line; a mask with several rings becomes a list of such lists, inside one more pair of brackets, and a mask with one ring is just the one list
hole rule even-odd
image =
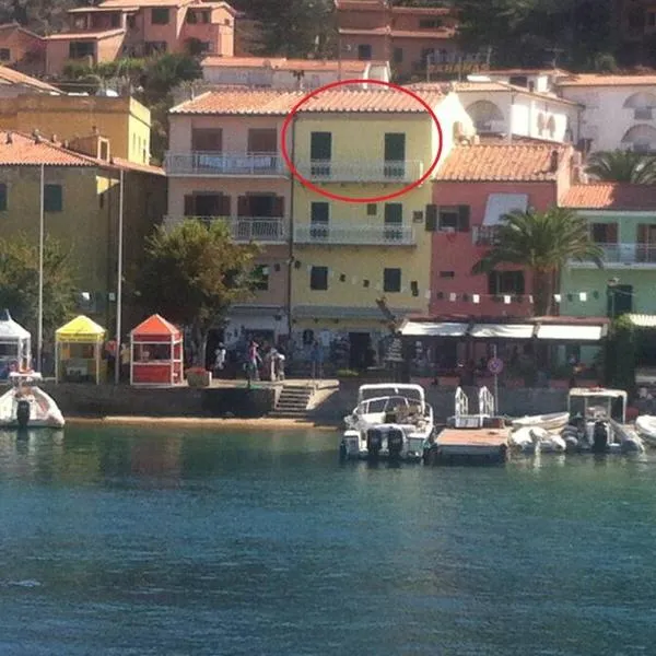
[[208, 331], [253, 291], [258, 251], [255, 244], [235, 244], [221, 221], [159, 226], [147, 239], [134, 286], [149, 312], [191, 328], [198, 364], [204, 364]]

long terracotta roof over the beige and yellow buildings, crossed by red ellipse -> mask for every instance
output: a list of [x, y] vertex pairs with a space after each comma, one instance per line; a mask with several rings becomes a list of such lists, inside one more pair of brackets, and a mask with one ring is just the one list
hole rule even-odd
[[[296, 105], [305, 92], [276, 90], [237, 90], [208, 92], [171, 109], [171, 114], [232, 114], [284, 116]], [[430, 105], [443, 97], [440, 91], [421, 94]], [[422, 113], [425, 109], [411, 96], [378, 89], [343, 89], [325, 91], [305, 103], [301, 113], [311, 112], [384, 112]]]

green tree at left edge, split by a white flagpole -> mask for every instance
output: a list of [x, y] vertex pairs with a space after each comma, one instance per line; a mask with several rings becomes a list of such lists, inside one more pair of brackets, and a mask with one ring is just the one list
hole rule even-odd
[[[25, 234], [0, 238], [0, 307], [32, 335], [38, 321], [38, 244]], [[75, 309], [77, 271], [70, 249], [44, 241], [44, 335], [52, 335]]]

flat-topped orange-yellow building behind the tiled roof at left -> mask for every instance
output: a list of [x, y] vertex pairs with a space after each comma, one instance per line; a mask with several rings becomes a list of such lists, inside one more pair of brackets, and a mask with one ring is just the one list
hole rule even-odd
[[112, 143], [112, 154], [150, 163], [151, 113], [131, 97], [34, 95], [0, 98], [0, 129], [72, 141], [97, 132]]

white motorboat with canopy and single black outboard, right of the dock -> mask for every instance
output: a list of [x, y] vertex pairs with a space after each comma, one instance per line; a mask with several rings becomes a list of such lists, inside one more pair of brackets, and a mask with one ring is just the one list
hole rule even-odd
[[604, 387], [570, 390], [570, 425], [563, 437], [569, 449], [642, 453], [642, 436], [626, 424], [626, 393]]

